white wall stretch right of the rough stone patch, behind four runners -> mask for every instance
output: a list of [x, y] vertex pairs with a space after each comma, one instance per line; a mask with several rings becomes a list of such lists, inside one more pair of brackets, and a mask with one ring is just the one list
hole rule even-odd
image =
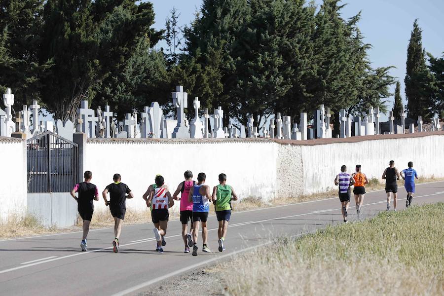
[[[301, 146], [303, 194], [337, 188], [333, 184], [342, 165], [352, 173], [357, 164], [369, 179], [380, 179], [389, 161], [394, 160], [399, 171], [413, 168], [419, 176], [444, 177], [444, 135], [420, 138], [371, 140], [357, 143], [335, 143]], [[380, 179], [380, 182], [384, 180]], [[384, 181], [385, 182], [385, 181]]]

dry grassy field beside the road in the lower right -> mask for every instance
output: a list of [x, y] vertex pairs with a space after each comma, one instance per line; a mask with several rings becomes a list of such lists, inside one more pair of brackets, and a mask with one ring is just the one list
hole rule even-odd
[[233, 296], [444, 295], [443, 221], [444, 203], [382, 212], [280, 238], [212, 271]]

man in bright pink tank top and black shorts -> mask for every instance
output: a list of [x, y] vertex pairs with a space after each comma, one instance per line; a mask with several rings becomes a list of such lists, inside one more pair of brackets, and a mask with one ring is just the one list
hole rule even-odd
[[[182, 237], [185, 243], [185, 253], [189, 253], [189, 247], [193, 245], [193, 239], [191, 232], [193, 231], [193, 202], [188, 201], [189, 190], [196, 183], [193, 181], [193, 173], [191, 171], [186, 171], [184, 173], [185, 181], [181, 182], [176, 191], [173, 194], [173, 199], [181, 201], [181, 222], [182, 222]], [[179, 197], [181, 193], [181, 197]], [[190, 229], [188, 228], [188, 221], [190, 221]]]

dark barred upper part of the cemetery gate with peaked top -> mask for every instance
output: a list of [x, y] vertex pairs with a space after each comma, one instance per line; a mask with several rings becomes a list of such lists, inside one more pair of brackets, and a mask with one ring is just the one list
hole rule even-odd
[[27, 141], [28, 193], [69, 192], [77, 183], [78, 146], [52, 132]]

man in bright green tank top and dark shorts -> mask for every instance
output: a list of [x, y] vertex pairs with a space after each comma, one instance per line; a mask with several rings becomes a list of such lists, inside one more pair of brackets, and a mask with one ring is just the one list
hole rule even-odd
[[226, 175], [223, 173], [219, 175], [219, 185], [214, 186], [213, 188], [212, 199], [215, 204], [216, 216], [219, 222], [219, 252], [222, 252], [225, 250], [223, 243], [225, 241], [226, 229], [231, 217], [231, 201], [237, 200], [237, 195], [234, 192], [233, 187], [226, 184]]

